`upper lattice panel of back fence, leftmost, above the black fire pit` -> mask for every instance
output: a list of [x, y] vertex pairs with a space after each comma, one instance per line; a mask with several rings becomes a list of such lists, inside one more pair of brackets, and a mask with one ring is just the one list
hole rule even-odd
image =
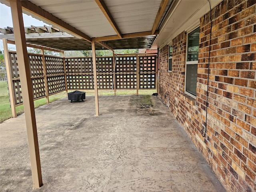
[[70, 73], [93, 73], [92, 58], [66, 58], [66, 72]]

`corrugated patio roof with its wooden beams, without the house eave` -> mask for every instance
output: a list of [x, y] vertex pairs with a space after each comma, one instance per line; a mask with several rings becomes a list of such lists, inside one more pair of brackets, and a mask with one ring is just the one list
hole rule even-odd
[[[74, 36], [54, 38], [46, 31], [48, 37], [30, 36], [26, 42], [58, 50], [91, 50], [91, 41], [95, 38], [95, 42], [103, 42], [112, 49], [151, 48], [172, 2], [24, 0], [22, 8], [25, 14]], [[1, 0], [1, 3], [10, 6], [8, 0]], [[102, 44], [96, 44], [96, 49], [102, 49]]]

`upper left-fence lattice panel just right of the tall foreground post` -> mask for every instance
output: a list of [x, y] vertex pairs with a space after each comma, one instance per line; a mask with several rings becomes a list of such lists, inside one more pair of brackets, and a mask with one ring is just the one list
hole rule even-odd
[[43, 76], [43, 64], [42, 64], [42, 55], [29, 54], [28, 59], [30, 61], [30, 75], [34, 76]]

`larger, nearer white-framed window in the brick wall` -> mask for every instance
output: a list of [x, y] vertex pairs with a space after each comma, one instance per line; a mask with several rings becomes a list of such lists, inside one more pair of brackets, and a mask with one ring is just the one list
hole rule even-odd
[[188, 33], [186, 59], [186, 92], [196, 96], [200, 28]]

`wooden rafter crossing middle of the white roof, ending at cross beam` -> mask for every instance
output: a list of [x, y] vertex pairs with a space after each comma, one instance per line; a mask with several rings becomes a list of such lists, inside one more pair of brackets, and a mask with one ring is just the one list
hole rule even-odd
[[105, 15], [105, 17], [107, 18], [108, 22], [111, 24], [111, 26], [115, 30], [118, 37], [122, 38], [122, 33], [120, 32], [118, 26], [116, 25], [116, 22], [114, 21], [111, 13], [109, 12], [108, 7], [106, 6], [104, 0], [95, 0], [95, 2], [99, 6], [100, 10]]

